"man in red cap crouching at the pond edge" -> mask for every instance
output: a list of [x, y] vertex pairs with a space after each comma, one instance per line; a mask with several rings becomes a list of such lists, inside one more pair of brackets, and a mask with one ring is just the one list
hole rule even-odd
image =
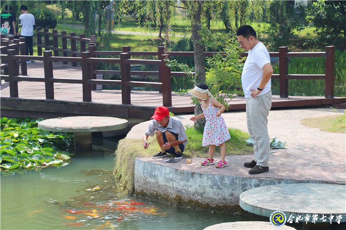
[[165, 157], [170, 153], [174, 154], [174, 159], [181, 159], [187, 144], [186, 132], [181, 121], [170, 116], [168, 108], [164, 106], [157, 107], [150, 119], [153, 120], [143, 135], [144, 149], [149, 146], [148, 137], [156, 133], [160, 152], [153, 155], [153, 158]]

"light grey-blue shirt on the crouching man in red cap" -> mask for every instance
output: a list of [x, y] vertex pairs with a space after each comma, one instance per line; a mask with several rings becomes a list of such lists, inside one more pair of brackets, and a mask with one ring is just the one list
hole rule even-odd
[[[178, 135], [178, 141], [187, 140], [184, 125], [178, 118], [174, 116], [170, 116], [170, 120], [168, 121], [167, 127], [162, 127], [159, 124], [159, 122], [157, 122], [157, 120], [153, 119], [152, 122], [149, 124], [147, 131], [145, 131], [145, 135], [149, 135], [152, 137], [154, 136], [156, 130], [160, 130], [163, 133], [169, 130]], [[186, 146], [187, 141], [183, 142], [182, 144]]]

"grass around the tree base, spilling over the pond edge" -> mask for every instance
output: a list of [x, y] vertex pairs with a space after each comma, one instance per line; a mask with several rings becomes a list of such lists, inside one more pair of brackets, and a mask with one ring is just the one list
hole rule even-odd
[[[246, 145], [242, 139], [248, 139], [249, 134], [238, 129], [229, 129], [231, 139], [226, 142], [227, 155], [251, 154], [253, 147]], [[208, 146], [202, 147], [203, 133], [197, 132], [193, 127], [186, 128], [188, 144], [184, 151], [184, 157], [208, 157]], [[159, 151], [155, 136], [149, 137], [148, 149], [143, 149], [141, 139], [122, 139], [119, 141], [115, 152], [116, 160], [114, 175], [125, 190], [134, 192], [134, 159], [136, 157], [151, 157]], [[219, 147], [216, 147], [215, 156], [220, 156]]]

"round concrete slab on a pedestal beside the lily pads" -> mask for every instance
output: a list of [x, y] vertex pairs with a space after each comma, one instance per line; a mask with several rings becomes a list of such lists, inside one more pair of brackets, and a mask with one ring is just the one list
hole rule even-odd
[[91, 149], [91, 133], [124, 129], [128, 120], [111, 116], [68, 116], [42, 120], [38, 127], [51, 132], [74, 133], [76, 149]]

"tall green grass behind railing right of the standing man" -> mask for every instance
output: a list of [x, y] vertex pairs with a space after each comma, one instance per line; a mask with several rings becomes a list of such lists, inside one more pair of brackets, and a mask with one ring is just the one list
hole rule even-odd
[[[335, 52], [335, 97], [346, 97], [346, 51]], [[279, 65], [274, 64], [274, 74], [279, 73]], [[325, 74], [325, 58], [290, 58], [289, 74]], [[272, 80], [273, 94], [279, 94], [279, 79]], [[288, 94], [291, 96], [324, 96], [325, 80], [292, 79], [288, 81]]]

